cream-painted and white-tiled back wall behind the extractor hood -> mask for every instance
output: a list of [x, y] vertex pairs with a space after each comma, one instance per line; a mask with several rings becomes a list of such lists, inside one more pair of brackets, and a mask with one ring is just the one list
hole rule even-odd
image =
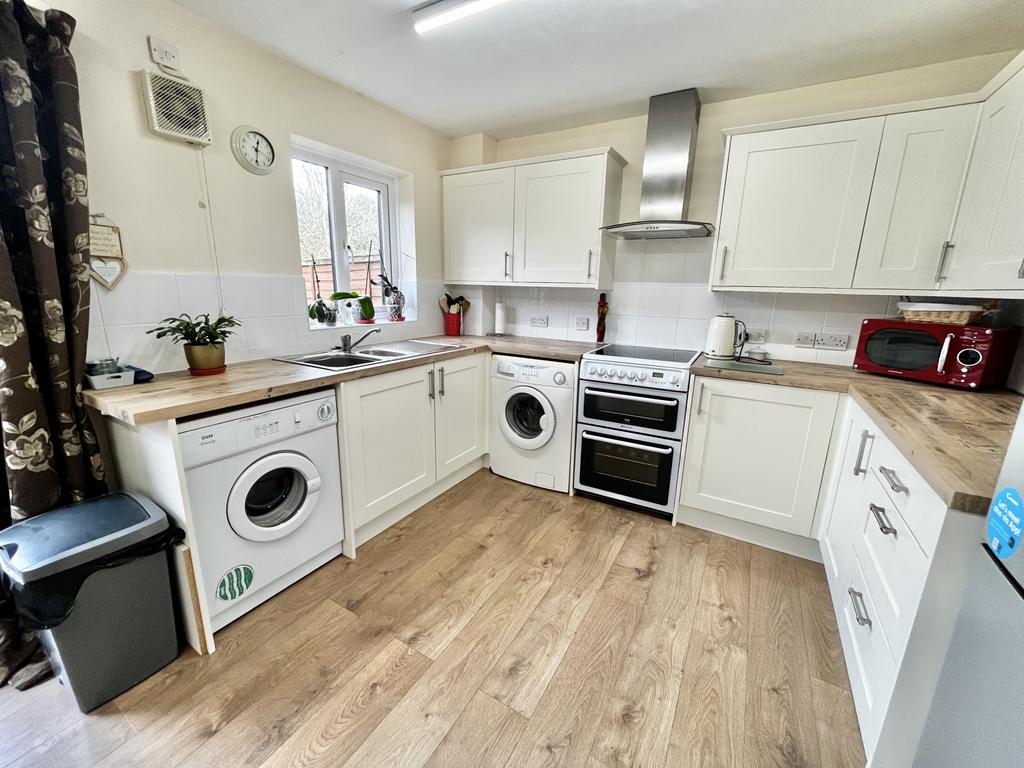
[[[947, 61], [912, 70], [706, 103], [701, 109], [689, 217], [714, 222], [722, 178], [725, 141], [722, 129], [752, 123], [911, 101], [977, 90], [1012, 57], [1012, 52]], [[647, 128], [646, 116], [579, 128], [509, 138], [497, 142], [498, 161], [517, 160], [593, 146], [613, 146], [627, 161], [623, 176], [621, 219], [636, 218]], [[459, 144], [462, 159], [486, 162]], [[864, 317], [895, 313], [895, 299], [872, 296], [718, 293], [708, 290], [712, 240], [621, 242], [615, 281], [608, 295], [607, 340], [663, 347], [701, 348], [710, 317], [729, 311], [752, 328], [768, 330], [766, 348], [783, 359], [851, 365], [852, 349], [830, 352], [794, 346], [797, 331], [851, 335], [851, 346]], [[525, 336], [589, 340], [594, 338], [597, 294], [577, 289], [502, 289], [498, 301], [508, 306], [509, 331]], [[532, 328], [534, 314], [548, 316], [548, 328]], [[575, 330], [575, 317], [589, 318], [589, 330]]]

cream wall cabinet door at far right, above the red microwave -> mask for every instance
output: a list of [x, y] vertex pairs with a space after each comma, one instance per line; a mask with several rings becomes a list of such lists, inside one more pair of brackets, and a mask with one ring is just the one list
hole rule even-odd
[[993, 93], [968, 168], [941, 287], [1024, 289], [1024, 71]]

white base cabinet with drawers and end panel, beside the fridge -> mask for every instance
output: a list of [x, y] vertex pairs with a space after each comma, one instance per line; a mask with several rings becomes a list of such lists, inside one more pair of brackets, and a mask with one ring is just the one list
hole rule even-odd
[[842, 431], [822, 560], [868, 765], [905, 766], [928, 715], [983, 518], [947, 510], [849, 399]]

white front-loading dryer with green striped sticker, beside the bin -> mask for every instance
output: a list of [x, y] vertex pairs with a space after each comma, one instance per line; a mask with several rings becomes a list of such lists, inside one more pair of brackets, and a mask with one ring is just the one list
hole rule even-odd
[[178, 441], [214, 631], [341, 554], [333, 391], [182, 422]]

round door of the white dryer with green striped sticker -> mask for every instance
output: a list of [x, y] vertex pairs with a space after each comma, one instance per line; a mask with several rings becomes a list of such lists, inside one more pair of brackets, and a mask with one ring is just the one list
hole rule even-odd
[[272, 542], [298, 529], [316, 507], [321, 476], [311, 461], [293, 451], [257, 459], [227, 495], [227, 522], [250, 542]]

